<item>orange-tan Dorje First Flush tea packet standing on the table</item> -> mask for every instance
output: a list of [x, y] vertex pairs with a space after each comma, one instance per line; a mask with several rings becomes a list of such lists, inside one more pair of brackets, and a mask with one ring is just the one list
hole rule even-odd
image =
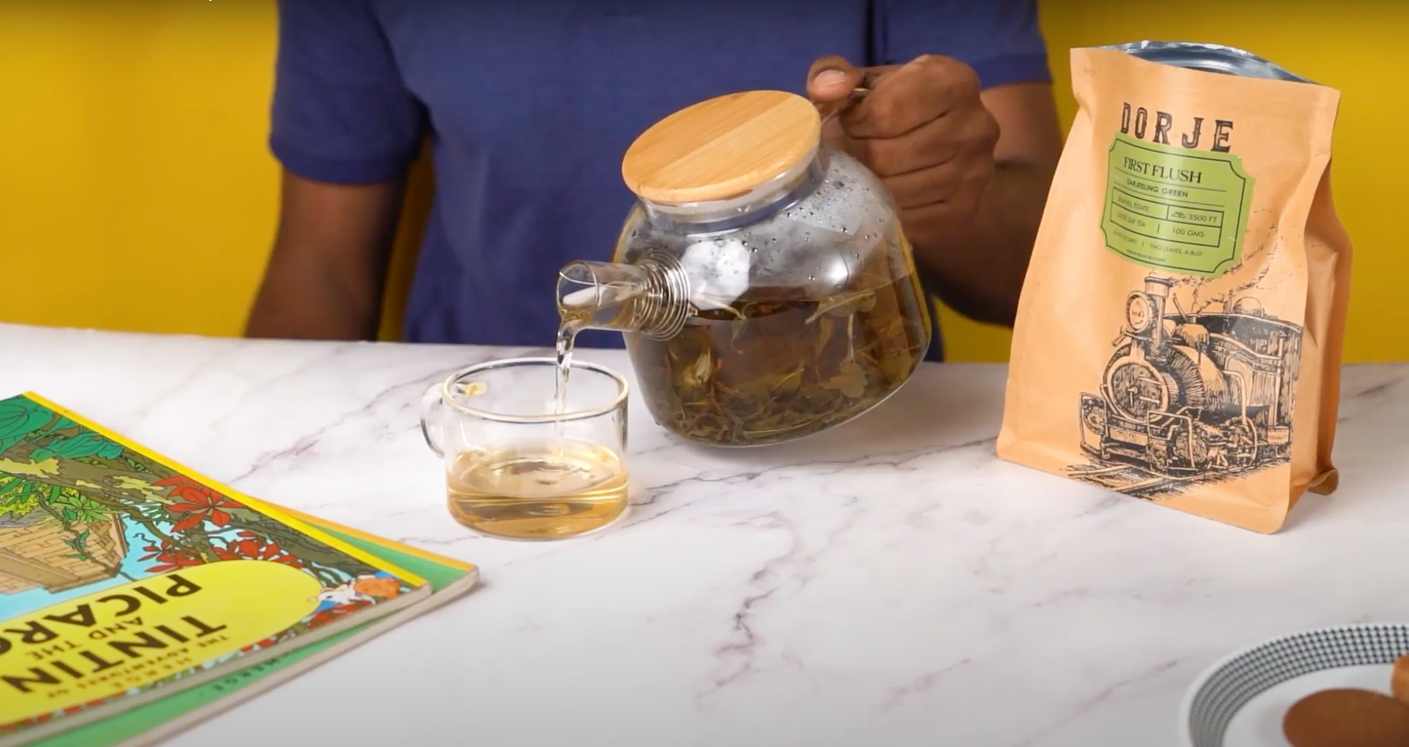
[[1340, 93], [1227, 47], [1071, 52], [998, 455], [1260, 533], [1330, 493]]

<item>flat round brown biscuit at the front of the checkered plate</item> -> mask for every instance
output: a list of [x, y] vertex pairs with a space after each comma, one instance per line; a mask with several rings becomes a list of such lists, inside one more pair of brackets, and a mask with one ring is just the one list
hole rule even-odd
[[1409, 705], [1374, 691], [1313, 692], [1286, 709], [1292, 747], [1409, 747]]

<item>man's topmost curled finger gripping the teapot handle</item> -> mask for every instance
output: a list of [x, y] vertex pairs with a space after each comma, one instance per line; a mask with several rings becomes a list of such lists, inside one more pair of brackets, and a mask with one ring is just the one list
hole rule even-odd
[[926, 55], [876, 78], [871, 94], [840, 118], [854, 138], [895, 138], [972, 100], [978, 90], [972, 68]]

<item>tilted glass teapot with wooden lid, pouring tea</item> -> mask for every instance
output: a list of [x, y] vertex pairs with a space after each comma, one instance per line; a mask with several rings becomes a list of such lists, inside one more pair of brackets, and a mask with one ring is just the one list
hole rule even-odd
[[895, 393], [930, 310], [881, 180], [806, 99], [734, 93], [643, 132], [612, 262], [558, 276], [565, 334], [619, 330], [651, 416], [712, 445], [790, 441]]

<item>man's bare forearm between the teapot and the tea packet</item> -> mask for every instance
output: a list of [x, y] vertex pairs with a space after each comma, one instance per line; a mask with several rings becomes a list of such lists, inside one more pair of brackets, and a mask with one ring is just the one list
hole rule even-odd
[[914, 230], [916, 262], [955, 311], [1012, 327], [1054, 166], [996, 163], [971, 216]]

